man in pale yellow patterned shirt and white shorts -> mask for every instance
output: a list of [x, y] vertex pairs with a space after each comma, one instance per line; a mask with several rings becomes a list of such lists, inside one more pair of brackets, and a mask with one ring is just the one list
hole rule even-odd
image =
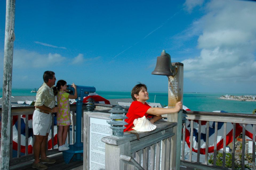
[[[35, 135], [34, 157], [32, 168], [40, 170], [48, 169], [43, 163], [54, 164], [56, 161], [46, 157], [46, 146], [48, 135], [52, 124], [52, 113], [58, 112], [55, 107], [55, 96], [53, 87], [56, 81], [53, 71], [45, 71], [43, 74], [44, 83], [38, 89], [35, 101], [35, 111], [33, 114], [33, 133]], [[39, 156], [41, 154], [41, 160]]]

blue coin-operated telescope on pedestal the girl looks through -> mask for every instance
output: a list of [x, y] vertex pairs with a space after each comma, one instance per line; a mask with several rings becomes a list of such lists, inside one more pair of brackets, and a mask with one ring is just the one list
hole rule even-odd
[[[69, 90], [70, 94], [75, 93], [75, 89], [71, 87], [71, 85], [67, 85], [67, 90]], [[95, 87], [91, 86], [77, 86], [77, 99], [76, 101], [76, 141], [73, 145], [69, 145], [69, 150], [62, 151], [62, 155], [64, 157], [65, 163], [69, 163], [70, 160], [75, 155], [74, 159], [75, 161], [82, 161], [82, 154], [83, 154], [83, 143], [81, 142], [82, 139], [82, 106], [83, 106], [83, 98], [88, 96], [89, 93], [94, 93], [96, 91]]]

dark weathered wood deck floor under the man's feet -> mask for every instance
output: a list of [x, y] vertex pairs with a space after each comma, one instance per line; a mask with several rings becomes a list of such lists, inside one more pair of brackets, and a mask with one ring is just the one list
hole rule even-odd
[[[45, 164], [49, 170], [69, 170], [69, 169], [83, 169], [83, 161], [73, 161], [71, 160], [69, 164], [66, 164], [63, 156], [62, 156], [62, 152], [54, 154], [49, 156], [52, 159], [56, 159], [56, 163], [55, 164]], [[21, 164], [17, 164], [17, 165], [13, 165], [10, 166], [10, 170], [35, 170], [34, 168], [32, 168], [32, 163], [34, 162], [34, 160], [31, 161], [27, 161]]]

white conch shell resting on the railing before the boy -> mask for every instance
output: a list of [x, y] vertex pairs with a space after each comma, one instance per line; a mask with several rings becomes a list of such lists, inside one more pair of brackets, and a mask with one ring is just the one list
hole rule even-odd
[[152, 124], [145, 116], [142, 118], [134, 119], [133, 124], [133, 129], [138, 132], [150, 132], [157, 128], [157, 126]]

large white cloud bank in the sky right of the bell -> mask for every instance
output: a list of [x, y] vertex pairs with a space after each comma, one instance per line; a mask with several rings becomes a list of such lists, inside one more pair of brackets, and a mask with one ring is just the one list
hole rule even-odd
[[197, 45], [201, 53], [182, 61], [184, 77], [211, 83], [255, 82], [256, 3], [214, 0], [205, 10], [191, 27], [202, 29]]

